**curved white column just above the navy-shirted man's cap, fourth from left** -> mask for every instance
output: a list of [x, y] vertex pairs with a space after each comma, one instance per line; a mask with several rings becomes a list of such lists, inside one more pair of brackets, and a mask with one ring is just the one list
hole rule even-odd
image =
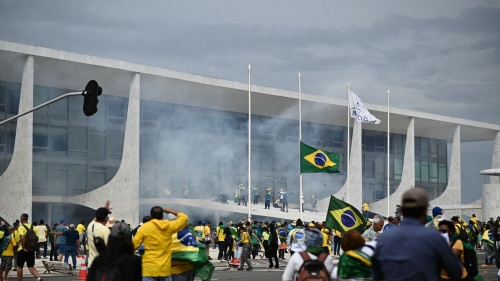
[[396, 205], [400, 203], [401, 196], [403, 193], [415, 186], [415, 119], [412, 117], [408, 123], [408, 129], [406, 130], [406, 144], [405, 144], [405, 156], [403, 162], [403, 177], [399, 183], [398, 188], [389, 197], [389, 210], [387, 204], [387, 197], [373, 202], [370, 204], [370, 210], [372, 212], [383, 214], [383, 215], [393, 215], [396, 209]]

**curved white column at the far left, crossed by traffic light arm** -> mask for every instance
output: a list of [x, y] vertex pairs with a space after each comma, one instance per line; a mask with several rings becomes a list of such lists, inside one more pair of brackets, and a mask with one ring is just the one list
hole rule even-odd
[[[21, 98], [19, 113], [33, 108], [33, 57], [28, 56], [23, 70], [21, 82]], [[33, 113], [17, 119], [16, 140], [14, 154], [9, 166], [0, 177], [1, 206], [15, 208], [2, 208], [2, 217], [8, 223], [19, 219], [22, 213], [27, 213], [32, 219], [32, 166], [33, 166]]]

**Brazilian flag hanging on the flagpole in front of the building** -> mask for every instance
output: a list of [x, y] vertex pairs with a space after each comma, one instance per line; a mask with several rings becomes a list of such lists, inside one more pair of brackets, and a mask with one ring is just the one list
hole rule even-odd
[[300, 142], [301, 173], [338, 173], [339, 155]]

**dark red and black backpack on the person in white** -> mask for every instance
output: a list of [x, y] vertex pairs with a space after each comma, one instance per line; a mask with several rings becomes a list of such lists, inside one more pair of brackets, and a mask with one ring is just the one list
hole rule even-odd
[[300, 266], [297, 281], [330, 281], [330, 274], [325, 267], [325, 260], [328, 257], [326, 253], [321, 253], [316, 260], [312, 260], [307, 252], [299, 254], [304, 263]]

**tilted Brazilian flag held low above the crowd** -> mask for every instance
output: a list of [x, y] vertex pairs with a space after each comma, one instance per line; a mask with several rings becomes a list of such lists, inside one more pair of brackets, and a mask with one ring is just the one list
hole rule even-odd
[[365, 225], [366, 220], [358, 209], [334, 196], [330, 197], [330, 206], [328, 207], [325, 222], [327, 228], [335, 229], [342, 233], [352, 229], [363, 233]]

